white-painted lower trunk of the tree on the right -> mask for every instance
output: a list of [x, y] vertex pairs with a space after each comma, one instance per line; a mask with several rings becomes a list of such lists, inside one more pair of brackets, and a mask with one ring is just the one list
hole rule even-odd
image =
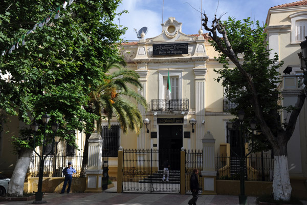
[[291, 191], [288, 156], [274, 156], [274, 199], [289, 201], [291, 198]]

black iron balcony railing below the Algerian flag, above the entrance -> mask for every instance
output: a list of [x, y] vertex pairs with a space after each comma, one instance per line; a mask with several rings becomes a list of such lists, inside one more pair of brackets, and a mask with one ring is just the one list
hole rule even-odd
[[152, 111], [188, 111], [189, 99], [152, 99]]

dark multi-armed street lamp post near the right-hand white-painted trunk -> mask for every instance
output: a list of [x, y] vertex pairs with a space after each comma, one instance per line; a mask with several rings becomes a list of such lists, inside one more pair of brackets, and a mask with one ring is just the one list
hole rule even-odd
[[[244, 119], [244, 111], [239, 111], [238, 112], [238, 118], [239, 118], [239, 147], [240, 147], [240, 156], [239, 161], [240, 161], [240, 195], [239, 195], [239, 204], [246, 204], [247, 197], [245, 195], [245, 159], [248, 155], [253, 150], [253, 145], [254, 145], [254, 130], [256, 128], [257, 122], [256, 120], [252, 119], [250, 122], [250, 127], [252, 130], [252, 149], [248, 154], [245, 154], [245, 137], [242, 136], [242, 122]], [[227, 128], [232, 129], [233, 127], [233, 122], [227, 122]]]

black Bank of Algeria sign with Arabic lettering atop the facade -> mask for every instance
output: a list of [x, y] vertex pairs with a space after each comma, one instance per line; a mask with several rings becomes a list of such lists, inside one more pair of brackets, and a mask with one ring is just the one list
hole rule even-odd
[[181, 55], [188, 54], [188, 43], [179, 44], [153, 44], [152, 55]]

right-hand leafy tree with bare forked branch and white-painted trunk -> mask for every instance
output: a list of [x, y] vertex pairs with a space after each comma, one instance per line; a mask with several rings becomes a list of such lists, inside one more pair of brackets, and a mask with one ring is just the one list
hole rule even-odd
[[[290, 200], [292, 189], [287, 143], [304, 104], [306, 89], [299, 93], [295, 106], [280, 106], [277, 86], [282, 63], [276, 65], [277, 54], [269, 59], [267, 35], [259, 22], [254, 24], [249, 18], [240, 21], [231, 17], [222, 22], [215, 15], [212, 25], [208, 26], [207, 15], [203, 20], [203, 26], [210, 32], [210, 42], [218, 51], [217, 60], [224, 65], [223, 69], [216, 70], [220, 74], [217, 81], [222, 80], [226, 96], [238, 104], [231, 114], [237, 115], [239, 110], [244, 110], [246, 124], [253, 117], [257, 119], [259, 128], [274, 152], [274, 199]], [[234, 69], [229, 69], [229, 60], [235, 65]], [[280, 122], [279, 113], [283, 110], [291, 113], [288, 122]]]

